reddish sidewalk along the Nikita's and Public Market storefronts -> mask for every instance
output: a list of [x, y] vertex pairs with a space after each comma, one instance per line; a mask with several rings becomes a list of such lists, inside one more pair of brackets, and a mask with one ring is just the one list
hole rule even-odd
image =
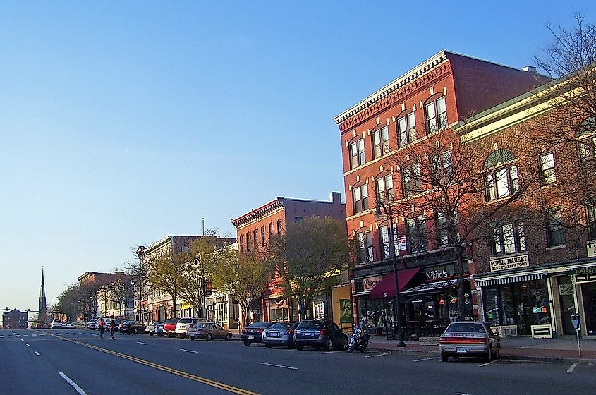
[[[396, 341], [384, 336], [372, 336], [370, 349], [390, 350], [401, 353], [439, 355], [438, 344], [420, 344], [420, 341], [406, 341], [406, 347], [397, 347]], [[537, 361], [573, 361], [596, 363], [596, 338], [581, 339], [581, 356], [578, 356], [577, 339], [574, 336], [560, 336], [557, 339], [533, 339], [517, 336], [501, 339], [500, 358]]]

